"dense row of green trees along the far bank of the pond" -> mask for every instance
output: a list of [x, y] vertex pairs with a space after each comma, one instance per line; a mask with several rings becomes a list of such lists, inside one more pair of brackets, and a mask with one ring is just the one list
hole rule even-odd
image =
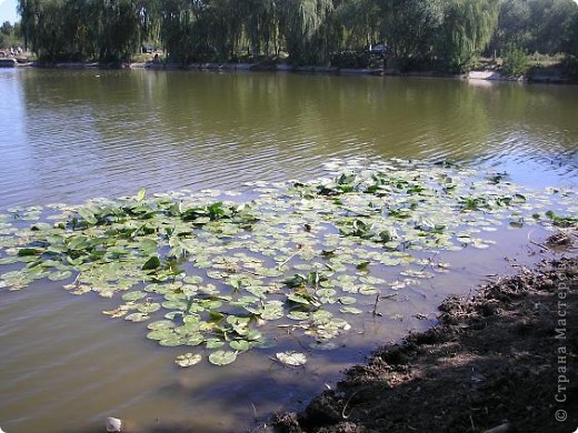
[[118, 62], [147, 42], [180, 63], [282, 52], [325, 66], [386, 42], [398, 68], [459, 72], [482, 52], [578, 46], [572, 0], [19, 0], [19, 12], [47, 61]]

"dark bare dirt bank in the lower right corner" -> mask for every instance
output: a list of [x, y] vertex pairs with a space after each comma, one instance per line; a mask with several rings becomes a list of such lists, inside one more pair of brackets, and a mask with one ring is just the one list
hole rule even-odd
[[346, 372], [279, 432], [578, 431], [578, 259], [544, 261]]

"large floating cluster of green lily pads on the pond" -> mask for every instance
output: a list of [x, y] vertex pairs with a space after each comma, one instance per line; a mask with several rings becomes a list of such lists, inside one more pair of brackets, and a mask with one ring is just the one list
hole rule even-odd
[[[72, 294], [119, 293], [122, 303], [104, 314], [147, 321], [160, 345], [191, 348], [179, 365], [207, 353], [225, 365], [275, 345], [279, 330], [331, 349], [351, 329], [347, 318], [370, 312], [373, 299], [447, 272], [432, 260], [439, 251], [488, 248], [485, 234], [500, 226], [577, 221], [571, 190], [537, 193], [502, 174], [407, 161], [327, 169], [308, 182], [255, 182], [245, 195], [141, 190], [10, 209], [0, 215], [0, 288], [49, 279]], [[280, 352], [277, 360], [307, 359]]]

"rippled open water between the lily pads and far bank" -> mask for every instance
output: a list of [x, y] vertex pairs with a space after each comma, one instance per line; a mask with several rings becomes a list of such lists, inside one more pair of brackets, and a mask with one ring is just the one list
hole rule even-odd
[[[576, 187], [575, 87], [182, 71], [0, 71], [0, 207], [451, 159]], [[561, 163], [561, 167], [560, 167]]]

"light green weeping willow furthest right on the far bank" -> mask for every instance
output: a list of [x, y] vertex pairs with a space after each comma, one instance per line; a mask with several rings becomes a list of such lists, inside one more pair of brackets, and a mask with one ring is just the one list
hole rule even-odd
[[447, 67], [465, 72], [488, 46], [498, 24], [498, 0], [452, 0], [444, 17], [441, 52]]

